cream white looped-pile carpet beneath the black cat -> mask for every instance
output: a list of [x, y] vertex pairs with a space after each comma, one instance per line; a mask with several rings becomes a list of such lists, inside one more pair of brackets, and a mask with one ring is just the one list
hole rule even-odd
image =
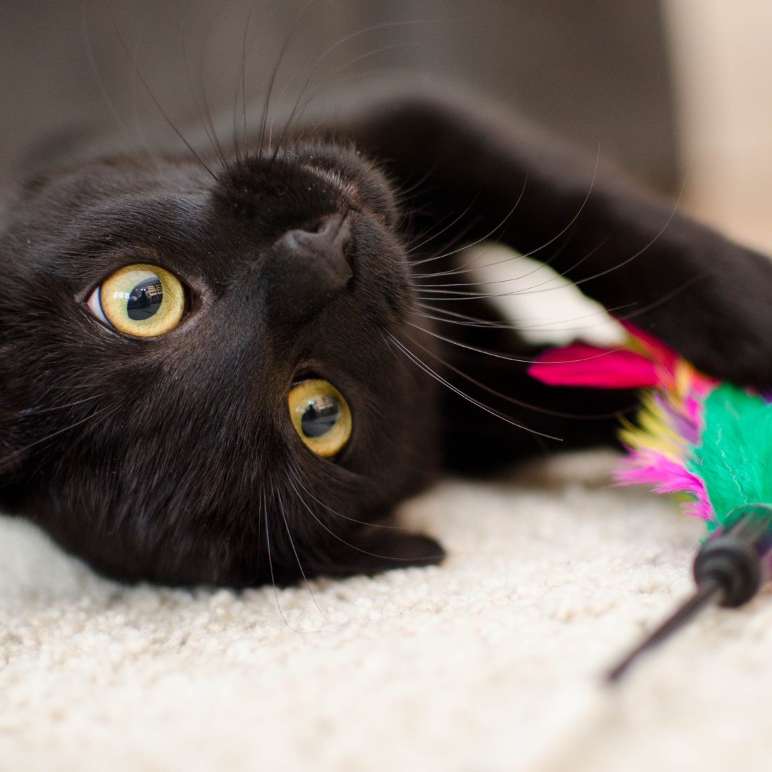
[[[236, 595], [122, 587], [0, 519], [2, 770], [726, 770], [772, 758], [772, 599], [598, 674], [700, 533], [608, 453], [444, 482], [442, 567]], [[317, 608], [318, 606], [318, 608]]]

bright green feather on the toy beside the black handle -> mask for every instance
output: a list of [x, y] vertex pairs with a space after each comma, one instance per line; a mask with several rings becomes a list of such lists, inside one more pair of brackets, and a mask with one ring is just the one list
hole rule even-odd
[[705, 401], [705, 428], [689, 470], [699, 475], [718, 523], [737, 506], [772, 503], [772, 405], [731, 384]]

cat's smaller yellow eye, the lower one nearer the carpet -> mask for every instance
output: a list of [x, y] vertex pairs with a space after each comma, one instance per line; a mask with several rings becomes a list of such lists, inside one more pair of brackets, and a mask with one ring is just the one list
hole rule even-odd
[[289, 415], [300, 439], [329, 459], [351, 435], [351, 411], [329, 381], [303, 381], [289, 392]]

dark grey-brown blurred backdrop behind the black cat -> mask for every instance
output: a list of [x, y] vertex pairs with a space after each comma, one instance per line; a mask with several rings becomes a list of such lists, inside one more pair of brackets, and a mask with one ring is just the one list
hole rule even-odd
[[297, 73], [334, 46], [314, 83], [320, 73], [333, 80], [384, 69], [448, 74], [592, 153], [600, 146], [652, 185], [675, 185], [655, 0], [317, 0], [301, 17], [305, 5], [0, 0], [0, 175], [52, 134], [117, 124], [129, 134], [168, 130], [137, 71], [172, 120], [204, 102], [238, 113], [242, 53], [246, 92], [255, 96], [297, 24], [279, 90], [293, 74], [289, 93], [299, 89], [305, 75]]

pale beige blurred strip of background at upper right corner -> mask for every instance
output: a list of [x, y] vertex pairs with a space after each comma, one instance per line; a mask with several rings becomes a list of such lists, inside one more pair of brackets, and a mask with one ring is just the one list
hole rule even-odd
[[682, 205], [772, 254], [772, 2], [664, 0]]

